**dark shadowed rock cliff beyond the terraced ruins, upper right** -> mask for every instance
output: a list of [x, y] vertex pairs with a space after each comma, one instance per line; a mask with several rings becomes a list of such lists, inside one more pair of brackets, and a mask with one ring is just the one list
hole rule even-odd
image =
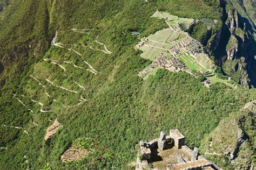
[[[250, 26], [250, 22], [244, 23], [246, 18], [242, 18], [241, 16], [244, 15], [246, 11], [244, 13], [238, 12], [241, 11], [243, 7], [236, 9], [238, 4], [242, 5], [244, 2], [220, 2], [223, 8], [223, 26], [216, 34], [213, 41], [208, 45], [215, 56], [216, 63], [223, 68], [228, 76], [245, 86], [251, 86], [251, 84], [255, 86], [256, 72], [254, 71], [254, 55], [256, 55], [256, 44], [253, 40], [253, 34], [251, 34], [252, 31], [248, 31], [253, 25]], [[253, 8], [255, 9], [255, 7], [252, 7], [252, 9]], [[239, 66], [230, 65], [230, 61], [237, 60]], [[230, 70], [233, 71], [230, 72]]]

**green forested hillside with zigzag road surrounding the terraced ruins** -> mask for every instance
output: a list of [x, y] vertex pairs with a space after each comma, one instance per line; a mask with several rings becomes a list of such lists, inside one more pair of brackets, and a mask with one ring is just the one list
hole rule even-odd
[[[188, 146], [200, 146], [221, 119], [254, 98], [254, 89], [216, 83], [207, 90], [200, 77], [163, 69], [144, 81], [137, 74], [151, 61], [140, 58], [130, 31], [145, 37], [166, 27], [150, 18], [157, 9], [221, 23], [218, 5], [10, 1], [0, 20], [1, 168], [125, 167], [140, 138], [162, 129], [178, 128]], [[56, 119], [62, 126], [45, 140]], [[90, 154], [63, 163], [61, 155], [75, 144]]]

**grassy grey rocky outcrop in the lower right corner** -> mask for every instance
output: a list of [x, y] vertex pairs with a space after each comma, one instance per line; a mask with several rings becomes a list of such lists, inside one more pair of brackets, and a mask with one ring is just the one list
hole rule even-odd
[[240, 111], [219, 123], [208, 140], [203, 140], [200, 150], [208, 157], [229, 160], [229, 164], [238, 169], [250, 169], [254, 154], [255, 114], [256, 101], [245, 104]]

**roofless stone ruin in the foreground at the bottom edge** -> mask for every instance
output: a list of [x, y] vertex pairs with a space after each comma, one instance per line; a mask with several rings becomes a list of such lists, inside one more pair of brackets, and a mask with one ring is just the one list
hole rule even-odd
[[[157, 150], [157, 152], [156, 152]], [[171, 152], [168, 152], [170, 150]], [[170, 153], [165, 160], [155, 160], [153, 157], [159, 157], [160, 152]], [[162, 166], [167, 170], [171, 169], [220, 169], [217, 165], [206, 160], [202, 155], [199, 155], [198, 148], [194, 147], [191, 150], [185, 145], [185, 137], [177, 129], [170, 130], [169, 135], [161, 131], [158, 139], [153, 139], [149, 142], [140, 141], [139, 143], [140, 158], [137, 158], [136, 169], [151, 169], [149, 164], [163, 161]], [[165, 153], [165, 154], [166, 154]], [[170, 159], [174, 158], [174, 159]], [[162, 168], [160, 168], [162, 169]]]

